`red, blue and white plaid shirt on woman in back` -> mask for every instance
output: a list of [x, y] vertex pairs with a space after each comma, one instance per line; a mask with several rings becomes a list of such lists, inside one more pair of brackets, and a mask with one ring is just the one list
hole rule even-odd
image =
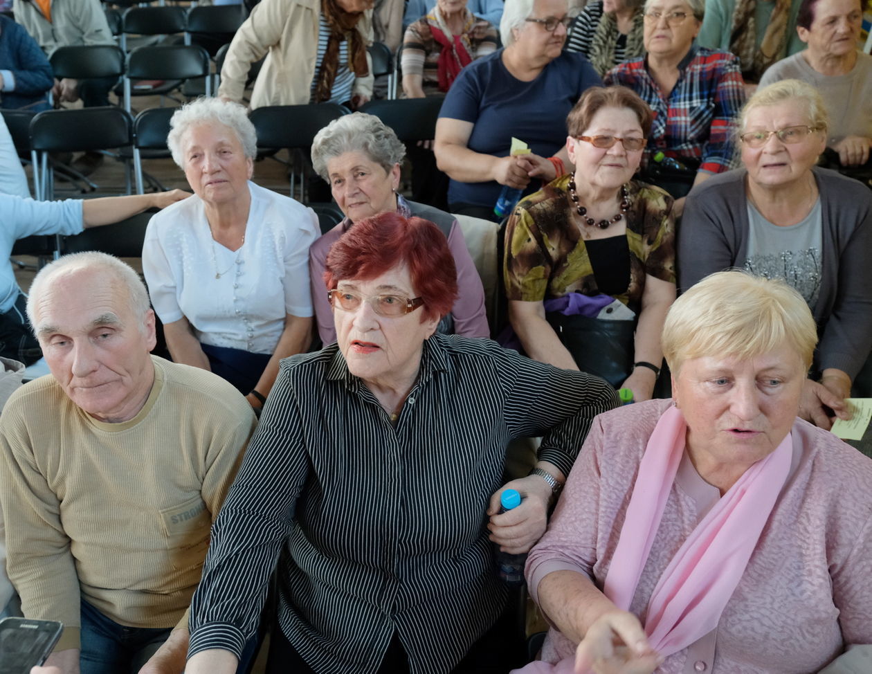
[[726, 51], [691, 47], [678, 64], [678, 82], [664, 98], [644, 57], [616, 65], [605, 85], [624, 85], [637, 92], [654, 111], [646, 159], [657, 150], [683, 160], [693, 158], [699, 170], [719, 174], [732, 167], [733, 128], [745, 105], [739, 58]]

